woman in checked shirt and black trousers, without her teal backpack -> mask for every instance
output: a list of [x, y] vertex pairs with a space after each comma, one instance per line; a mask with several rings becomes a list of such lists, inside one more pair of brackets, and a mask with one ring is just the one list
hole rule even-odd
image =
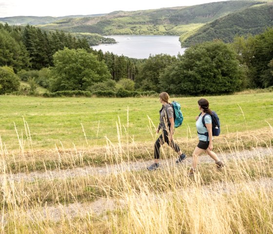
[[172, 104], [169, 102], [170, 96], [166, 92], [162, 92], [159, 94], [159, 101], [162, 104], [162, 108], [159, 110], [160, 113], [160, 123], [158, 125], [158, 128], [156, 129], [156, 133], [159, 132], [160, 129], [162, 129], [162, 134], [158, 137], [156, 140], [155, 146], [154, 146], [154, 156], [155, 161], [154, 163], [147, 167], [148, 170], [156, 170], [159, 168], [158, 159], [160, 157], [160, 147], [167, 143], [172, 149], [174, 149], [178, 154], [178, 159], [176, 160], [176, 163], [182, 162], [187, 156], [182, 153], [182, 151], [179, 149], [179, 147], [174, 142], [174, 126], [175, 126], [175, 120], [174, 120], [174, 108]]

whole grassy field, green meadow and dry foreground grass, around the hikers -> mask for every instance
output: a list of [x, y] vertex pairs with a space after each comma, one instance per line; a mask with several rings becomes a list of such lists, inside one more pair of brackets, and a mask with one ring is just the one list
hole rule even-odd
[[[130, 170], [152, 159], [158, 98], [0, 96], [0, 233], [273, 233], [272, 96], [207, 97], [220, 116], [214, 147], [225, 167], [205, 161], [192, 178], [186, 163]], [[185, 116], [176, 141], [190, 156], [199, 97], [173, 99]], [[161, 159], [176, 155], [165, 146]], [[110, 164], [116, 172], [107, 172]], [[87, 165], [106, 172], [77, 172]]]

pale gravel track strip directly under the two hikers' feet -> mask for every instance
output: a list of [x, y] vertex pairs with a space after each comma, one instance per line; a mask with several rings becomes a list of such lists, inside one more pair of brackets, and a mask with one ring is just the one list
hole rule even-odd
[[[238, 159], [248, 159], [253, 157], [264, 157], [266, 155], [272, 155], [272, 148], [255, 148], [252, 150], [244, 150], [233, 153], [221, 153], [218, 154], [220, 160], [238, 160]], [[161, 160], [160, 168], [164, 167], [173, 167], [176, 165], [176, 158]], [[208, 155], [202, 154], [199, 156], [199, 163], [213, 163], [213, 159], [211, 159]], [[116, 165], [106, 165], [104, 167], [83, 167], [83, 168], [75, 168], [75, 169], [67, 169], [67, 170], [47, 170], [45, 172], [30, 172], [26, 173], [17, 173], [17, 174], [0, 174], [0, 182], [3, 179], [14, 180], [14, 181], [34, 181], [36, 179], [57, 179], [57, 178], [67, 178], [74, 176], [85, 176], [85, 175], [98, 175], [98, 174], [111, 174], [111, 173], [120, 173], [122, 171], [132, 171], [132, 170], [146, 170], [146, 167], [153, 163], [153, 160], [149, 161], [135, 161], [135, 162], [124, 162], [122, 164]], [[188, 157], [184, 162], [180, 165], [191, 165], [192, 157]]]

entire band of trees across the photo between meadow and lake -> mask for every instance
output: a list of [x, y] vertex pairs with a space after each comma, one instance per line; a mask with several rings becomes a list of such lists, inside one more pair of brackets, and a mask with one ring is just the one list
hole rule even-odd
[[230, 44], [199, 43], [177, 57], [158, 54], [137, 60], [93, 50], [86, 40], [64, 32], [0, 24], [0, 68], [0, 94], [20, 89], [18, 77], [51, 92], [81, 90], [109, 96], [266, 88], [273, 85], [273, 27], [257, 36], [236, 37]]

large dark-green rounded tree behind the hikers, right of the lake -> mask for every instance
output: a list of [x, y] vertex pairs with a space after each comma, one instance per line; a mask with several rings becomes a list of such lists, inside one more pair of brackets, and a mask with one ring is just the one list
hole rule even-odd
[[188, 48], [159, 81], [162, 90], [173, 94], [223, 94], [239, 90], [242, 75], [234, 49], [215, 41]]

